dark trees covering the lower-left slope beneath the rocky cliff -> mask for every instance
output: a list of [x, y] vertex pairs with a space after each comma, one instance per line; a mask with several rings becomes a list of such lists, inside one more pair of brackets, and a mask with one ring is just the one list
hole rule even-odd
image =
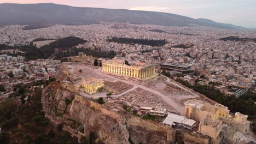
[[[53, 80], [51, 78], [50, 80]], [[19, 85], [19, 93], [27, 93], [27, 87], [42, 85], [44, 81]], [[20, 90], [21, 89], [21, 90]], [[42, 88], [36, 87], [27, 103], [17, 104], [12, 99], [4, 100], [0, 105], [0, 143], [79, 143], [77, 137], [73, 137], [68, 131], [63, 131], [63, 125], [53, 127], [49, 119], [45, 117], [42, 107]], [[69, 100], [65, 101], [70, 103]], [[20, 125], [20, 127], [18, 127]], [[11, 137], [11, 138], [10, 138]], [[96, 137], [96, 138], [95, 138]], [[90, 138], [89, 138], [90, 139]], [[97, 136], [91, 137], [90, 141], [95, 142]], [[85, 138], [85, 140], [87, 140]], [[90, 141], [88, 141], [90, 143]], [[83, 141], [86, 143], [85, 141]]]

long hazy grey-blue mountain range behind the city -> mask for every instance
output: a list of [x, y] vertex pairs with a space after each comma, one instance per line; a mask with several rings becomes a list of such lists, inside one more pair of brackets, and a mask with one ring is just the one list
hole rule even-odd
[[33, 23], [54, 23], [62, 25], [84, 25], [98, 22], [130, 22], [161, 26], [208, 26], [229, 29], [245, 27], [218, 23], [207, 19], [126, 9], [80, 8], [54, 3], [0, 4], [0, 25]]

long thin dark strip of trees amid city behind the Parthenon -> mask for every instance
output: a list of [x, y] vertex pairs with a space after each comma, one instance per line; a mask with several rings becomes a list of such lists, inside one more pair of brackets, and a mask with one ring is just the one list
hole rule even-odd
[[117, 38], [107, 39], [109, 42], [115, 42], [120, 44], [141, 44], [150, 46], [164, 46], [167, 44], [166, 40], [151, 40], [151, 39], [132, 39], [132, 38]]

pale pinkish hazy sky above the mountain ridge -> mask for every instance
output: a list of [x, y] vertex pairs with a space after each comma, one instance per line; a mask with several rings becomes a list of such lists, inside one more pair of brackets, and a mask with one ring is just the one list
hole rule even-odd
[[58, 3], [75, 7], [161, 11], [256, 28], [256, 0], [0, 0], [0, 3]]

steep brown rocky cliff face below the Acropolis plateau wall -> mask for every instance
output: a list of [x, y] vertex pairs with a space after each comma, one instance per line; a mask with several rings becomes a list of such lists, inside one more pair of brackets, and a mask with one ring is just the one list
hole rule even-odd
[[48, 93], [49, 113], [64, 123], [72, 119], [83, 124], [85, 135], [94, 132], [103, 143], [130, 143], [129, 137], [136, 144], [174, 142], [175, 130], [170, 127], [130, 113], [124, 114], [124, 111], [110, 111], [106, 106], [76, 95], [60, 84], [51, 89]]

